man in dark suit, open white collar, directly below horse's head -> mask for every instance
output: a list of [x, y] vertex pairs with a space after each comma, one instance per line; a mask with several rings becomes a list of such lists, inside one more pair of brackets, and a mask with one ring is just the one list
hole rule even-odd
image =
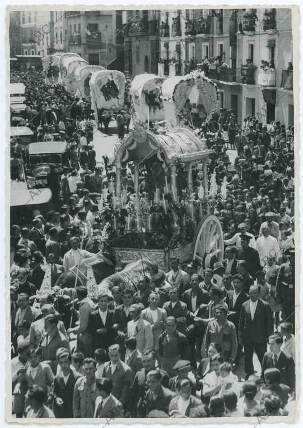
[[108, 349], [113, 344], [115, 331], [112, 329], [113, 311], [108, 309], [108, 295], [98, 296], [99, 308], [89, 314], [88, 329], [92, 334], [92, 351], [101, 346]]

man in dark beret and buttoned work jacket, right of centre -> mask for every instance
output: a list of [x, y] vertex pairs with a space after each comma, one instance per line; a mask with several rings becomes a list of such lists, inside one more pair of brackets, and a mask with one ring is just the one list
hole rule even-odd
[[204, 347], [207, 354], [210, 343], [219, 343], [224, 361], [233, 364], [238, 348], [237, 333], [235, 325], [231, 321], [227, 321], [226, 318], [226, 306], [217, 304], [215, 306], [215, 320], [210, 321], [206, 328]]

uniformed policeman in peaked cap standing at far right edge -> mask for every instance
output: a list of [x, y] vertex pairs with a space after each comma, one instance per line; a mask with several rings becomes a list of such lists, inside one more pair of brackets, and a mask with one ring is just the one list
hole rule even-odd
[[284, 255], [288, 261], [280, 266], [275, 297], [281, 300], [284, 321], [291, 322], [295, 330], [295, 250], [289, 248]]

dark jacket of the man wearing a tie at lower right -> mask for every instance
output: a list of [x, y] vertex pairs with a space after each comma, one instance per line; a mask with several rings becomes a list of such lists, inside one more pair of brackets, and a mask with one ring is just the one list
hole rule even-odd
[[[264, 371], [267, 368], [272, 368], [274, 366], [273, 362], [273, 353], [266, 352], [263, 357], [262, 362], [262, 372], [261, 378], [264, 380]], [[295, 364], [292, 357], [288, 357], [281, 351], [279, 359], [276, 364], [276, 368], [280, 370], [281, 373], [281, 384], [288, 385], [290, 389], [294, 389], [296, 386], [295, 379]]]

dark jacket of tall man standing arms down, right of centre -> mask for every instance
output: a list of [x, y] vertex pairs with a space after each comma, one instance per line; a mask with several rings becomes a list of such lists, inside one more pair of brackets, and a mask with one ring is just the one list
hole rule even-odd
[[259, 299], [254, 320], [250, 313], [250, 299], [242, 304], [239, 320], [239, 339], [242, 342], [265, 343], [274, 331], [274, 320], [270, 306]]

